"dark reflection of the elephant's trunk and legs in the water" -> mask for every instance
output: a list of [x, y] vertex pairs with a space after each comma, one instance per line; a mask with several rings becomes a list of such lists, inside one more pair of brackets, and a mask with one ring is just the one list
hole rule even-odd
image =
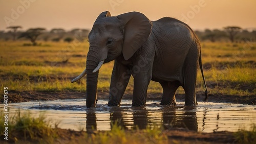
[[[184, 110], [180, 112], [178, 109], [179, 107], [163, 107], [162, 110], [159, 111], [162, 112], [161, 125], [163, 125], [163, 128], [185, 128], [198, 131], [196, 111], [194, 111], [195, 107], [184, 107]], [[148, 116], [152, 115], [150, 113], [150, 110], [143, 107], [132, 108], [131, 115], [123, 108], [113, 108], [110, 110], [111, 129], [113, 128], [113, 124], [117, 124], [122, 129], [145, 129], [149, 124], [155, 123], [154, 119], [150, 119], [150, 116]], [[97, 130], [97, 117], [95, 111], [87, 112], [86, 117], [87, 132]]]

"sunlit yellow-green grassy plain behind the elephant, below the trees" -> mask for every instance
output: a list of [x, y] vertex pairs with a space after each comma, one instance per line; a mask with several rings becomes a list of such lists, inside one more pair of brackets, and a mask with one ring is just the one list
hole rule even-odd
[[[70, 81], [86, 66], [88, 42], [41, 42], [39, 46], [23, 46], [26, 41], [1, 41], [0, 87], [10, 90], [86, 91], [86, 78]], [[47, 46], [45, 46], [47, 45]], [[210, 92], [236, 95], [255, 95], [255, 43], [202, 43], [203, 64]], [[68, 60], [67, 62], [65, 62]], [[109, 91], [113, 62], [104, 64], [99, 74], [99, 91]], [[199, 70], [197, 92], [204, 91]], [[243, 87], [248, 86], [248, 87]], [[247, 88], [247, 89], [246, 89]], [[126, 93], [133, 91], [133, 78]], [[159, 83], [151, 82], [148, 92], [161, 93]], [[182, 88], [177, 93], [184, 93]]]

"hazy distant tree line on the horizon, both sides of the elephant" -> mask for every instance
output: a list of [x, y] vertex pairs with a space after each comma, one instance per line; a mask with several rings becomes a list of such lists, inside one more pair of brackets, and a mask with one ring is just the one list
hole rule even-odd
[[[0, 40], [30, 40], [33, 45], [36, 45], [36, 40], [43, 41], [66, 41], [72, 42], [74, 39], [83, 41], [88, 38], [89, 30], [73, 29], [66, 31], [61, 28], [54, 28], [47, 31], [44, 28], [31, 28], [27, 31], [20, 31], [21, 26], [11, 26], [7, 28], [7, 32], [0, 31]], [[224, 27], [222, 30], [215, 29], [204, 31], [195, 31], [201, 41], [231, 41], [231, 42], [246, 42], [256, 41], [256, 30], [248, 31], [236, 26]]]

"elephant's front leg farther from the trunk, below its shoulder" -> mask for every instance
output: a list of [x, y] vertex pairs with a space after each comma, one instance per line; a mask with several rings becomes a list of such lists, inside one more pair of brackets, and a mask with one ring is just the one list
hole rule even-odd
[[134, 89], [133, 89], [133, 106], [145, 106], [146, 93], [148, 84], [150, 84], [152, 75], [151, 73], [133, 74], [134, 76]]

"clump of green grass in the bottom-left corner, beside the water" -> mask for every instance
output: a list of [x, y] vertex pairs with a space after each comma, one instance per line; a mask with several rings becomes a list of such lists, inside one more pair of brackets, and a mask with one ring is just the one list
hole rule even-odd
[[[5, 114], [1, 111], [1, 117]], [[10, 114], [9, 114], [10, 116]], [[38, 117], [32, 117], [30, 112], [21, 114], [17, 111], [12, 117], [8, 117], [8, 126], [5, 126], [5, 118], [0, 119], [0, 135], [4, 135], [5, 127], [8, 127], [8, 142], [15, 143], [34, 143], [47, 142], [52, 143], [53, 139], [57, 137], [56, 131], [46, 121], [46, 117], [40, 114]], [[55, 125], [57, 127], [57, 124]]]

